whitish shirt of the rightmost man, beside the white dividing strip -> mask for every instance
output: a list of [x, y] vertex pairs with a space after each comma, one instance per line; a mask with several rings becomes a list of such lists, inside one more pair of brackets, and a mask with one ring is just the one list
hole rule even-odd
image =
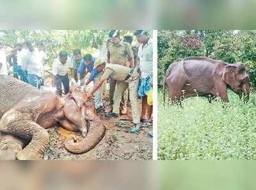
[[142, 48], [140, 44], [138, 49], [138, 57], [140, 59], [141, 78], [147, 78], [153, 75], [153, 43], [149, 38], [148, 43]]

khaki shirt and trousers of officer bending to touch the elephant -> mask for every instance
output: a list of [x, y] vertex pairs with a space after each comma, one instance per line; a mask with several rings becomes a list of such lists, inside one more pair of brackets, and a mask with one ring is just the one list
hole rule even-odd
[[111, 78], [117, 81], [117, 87], [113, 98], [113, 113], [119, 114], [122, 94], [127, 89], [127, 87], [129, 87], [133, 123], [138, 124], [140, 123], [140, 111], [138, 103], [138, 85], [140, 75], [137, 71], [135, 71], [131, 78], [125, 80], [130, 71], [131, 68], [127, 68], [125, 66], [120, 66], [118, 64], [106, 64], [106, 67], [102, 73], [102, 78]]

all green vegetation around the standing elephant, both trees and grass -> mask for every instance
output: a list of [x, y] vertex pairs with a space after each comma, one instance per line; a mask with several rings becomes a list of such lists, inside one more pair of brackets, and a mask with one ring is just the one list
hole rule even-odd
[[159, 159], [256, 159], [256, 94], [244, 103], [229, 92], [230, 103], [188, 98], [182, 107], [164, 106], [162, 84], [170, 62], [207, 56], [242, 61], [256, 87], [256, 34], [253, 31], [160, 31], [158, 36]]

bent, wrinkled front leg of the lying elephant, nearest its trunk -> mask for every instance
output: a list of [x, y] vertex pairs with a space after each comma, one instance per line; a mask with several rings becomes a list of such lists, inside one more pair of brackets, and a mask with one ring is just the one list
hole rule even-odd
[[17, 154], [17, 159], [42, 159], [44, 150], [49, 143], [49, 134], [36, 122], [15, 120], [4, 126], [3, 133], [19, 136], [31, 140], [28, 145]]

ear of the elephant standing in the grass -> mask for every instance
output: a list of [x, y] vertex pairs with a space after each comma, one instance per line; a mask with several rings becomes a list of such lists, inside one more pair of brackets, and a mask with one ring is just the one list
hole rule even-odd
[[232, 89], [234, 89], [236, 84], [236, 69], [236, 64], [228, 64], [225, 66], [222, 73], [222, 80]]

